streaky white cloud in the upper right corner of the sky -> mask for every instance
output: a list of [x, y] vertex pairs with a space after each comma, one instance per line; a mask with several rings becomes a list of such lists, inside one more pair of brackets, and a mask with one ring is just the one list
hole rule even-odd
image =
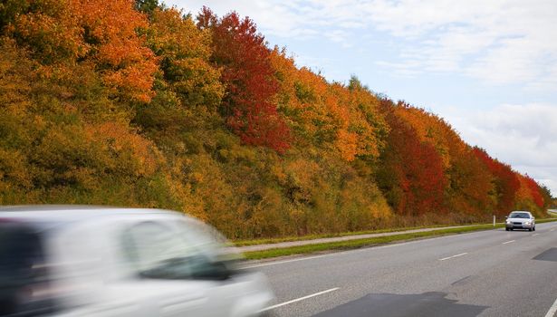
[[[400, 64], [422, 72], [462, 72], [486, 83], [525, 83], [551, 89], [557, 63], [557, 2], [379, 1], [379, 29], [403, 39], [414, 53]], [[405, 18], [407, 16], [407, 18]], [[418, 61], [418, 66], [416, 66]], [[553, 86], [554, 88], [554, 86]]]

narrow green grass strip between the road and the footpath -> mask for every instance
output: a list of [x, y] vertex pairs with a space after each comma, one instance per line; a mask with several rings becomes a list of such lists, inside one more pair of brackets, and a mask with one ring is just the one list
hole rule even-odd
[[[557, 218], [540, 219], [540, 220], [536, 220], [536, 223], [540, 224], [540, 223], [546, 223], [552, 221], [557, 221]], [[262, 251], [246, 252], [244, 255], [245, 258], [248, 260], [261, 260], [261, 259], [272, 258], [277, 256], [312, 254], [312, 253], [328, 251], [328, 250], [350, 250], [350, 249], [357, 249], [364, 246], [386, 245], [393, 242], [418, 240], [421, 238], [433, 237], [433, 236], [457, 235], [457, 234], [463, 234], [467, 232], [493, 230], [496, 228], [503, 228], [503, 227], [504, 224], [497, 224], [495, 225], [495, 227], [492, 224], [465, 226], [460, 228], [439, 229], [433, 231], [408, 233], [408, 234], [400, 234], [400, 235], [386, 235], [386, 236], [378, 236], [372, 238], [354, 239], [349, 241], [329, 242], [323, 244], [298, 245], [292, 247], [274, 248], [274, 249], [268, 249]]]

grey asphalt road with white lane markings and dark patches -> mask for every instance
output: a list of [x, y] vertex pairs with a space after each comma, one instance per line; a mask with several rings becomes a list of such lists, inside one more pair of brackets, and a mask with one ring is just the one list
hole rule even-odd
[[250, 266], [272, 316], [557, 316], [557, 223]]

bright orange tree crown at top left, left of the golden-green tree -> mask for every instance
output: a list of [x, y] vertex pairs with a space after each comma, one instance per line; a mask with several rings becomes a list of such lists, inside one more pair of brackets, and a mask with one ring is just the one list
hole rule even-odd
[[104, 73], [104, 81], [120, 93], [139, 101], [153, 96], [155, 55], [145, 45], [138, 29], [147, 28], [147, 18], [133, 9], [133, 0], [72, 0], [80, 17], [90, 56]]

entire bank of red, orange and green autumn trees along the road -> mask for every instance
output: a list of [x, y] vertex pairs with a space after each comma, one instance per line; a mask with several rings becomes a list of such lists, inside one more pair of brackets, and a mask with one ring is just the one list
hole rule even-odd
[[6, 0], [0, 34], [3, 205], [162, 207], [250, 238], [552, 203], [436, 115], [296, 67], [235, 13]]

